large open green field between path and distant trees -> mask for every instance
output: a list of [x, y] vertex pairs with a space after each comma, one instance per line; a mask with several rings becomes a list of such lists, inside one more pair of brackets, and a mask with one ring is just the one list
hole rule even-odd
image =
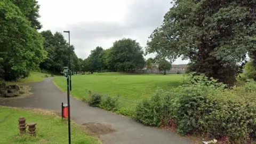
[[[122, 73], [95, 73], [72, 76], [71, 95], [87, 99], [86, 90], [120, 97], [121, 109], [130, 110], [143, 99], [151, 97], [157, 88], [170, 90], [182, 83], [183, 75], [131, 75]], [[54, 77], [54, 82], [63, 91], [67, 90], [66, 78]]]

